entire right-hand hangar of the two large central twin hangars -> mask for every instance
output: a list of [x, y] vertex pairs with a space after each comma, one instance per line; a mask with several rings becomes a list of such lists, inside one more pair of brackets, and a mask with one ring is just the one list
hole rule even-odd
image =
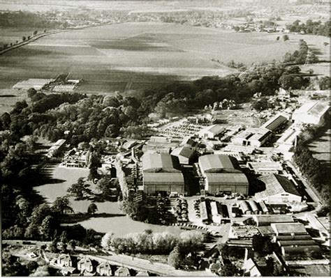
[[199, 157], [199, 168], [205, 180], [208, 194], [240, 193], [247, 194], [249, 182], [240, 171], [234, 157], [228, 155], [203, 155]]

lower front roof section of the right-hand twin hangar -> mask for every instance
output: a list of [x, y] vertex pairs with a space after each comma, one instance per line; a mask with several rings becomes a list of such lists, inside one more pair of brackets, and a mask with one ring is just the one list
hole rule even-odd
[[205, 173], [205, 176], [209, 185], [249, 185], [244, 173]]

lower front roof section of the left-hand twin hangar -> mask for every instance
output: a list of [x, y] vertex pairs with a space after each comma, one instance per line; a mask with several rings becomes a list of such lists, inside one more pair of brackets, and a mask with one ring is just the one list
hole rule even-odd
[[144, 172], [144, 185], [184, 185], [182, 173], [149, 173]]

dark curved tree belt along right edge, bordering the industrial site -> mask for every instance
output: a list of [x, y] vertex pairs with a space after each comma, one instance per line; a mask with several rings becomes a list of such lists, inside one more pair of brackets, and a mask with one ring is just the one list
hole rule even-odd
[[309, 150], [309, 144], [323, 134], [325, 127], [328, 126], [328, 122], [322, 126], [307, 126], [297, 140], [293, 156], [300, 171], [309, 178], [311, 185], [316, 188], [325, 203], [328, 203], [330, 198], [330, 171], [313, 156], [313, 153]]

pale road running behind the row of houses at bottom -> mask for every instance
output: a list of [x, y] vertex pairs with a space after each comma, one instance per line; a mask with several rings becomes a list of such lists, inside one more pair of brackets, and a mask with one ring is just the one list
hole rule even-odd
[[161, 276], [177, 276], [177, 277], [186, 277], [186, 276], [212, 276], [211, 272], [207, 271], [184, 271], [184, 270], [175, 270], [170, 265], [165, 265], [164, 263], [154, 263], [143, 258], [135, 258], [133, 256], [126, 256], [122, 254], [112, 254], [110, 256], [91, 256], [87, 257], [94, 259], [99, 262], [108, 262], [111, 265], [118, 265], [125, 268], [132, 268], [138, 271], [147, 271], [152, 272], [156, 275]]

